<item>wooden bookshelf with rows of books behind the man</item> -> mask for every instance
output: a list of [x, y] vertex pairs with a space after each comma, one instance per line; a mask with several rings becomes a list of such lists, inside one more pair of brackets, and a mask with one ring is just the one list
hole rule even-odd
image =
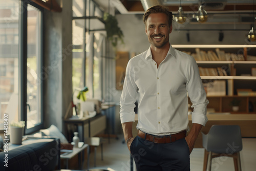
[[[207, 95], [207, 99], [209, 100], [207, 108], [214, 109], [216, 113], [256, 114], [256, 96], [238, 96], [237, 92], [237, 89], [251, 89], [253, 92], [256, 92], [256, 76], [249, 75], [251, 74], [251, 68], [256, 68], [256, 60], [248, 60], [247, 58], [248, 55], [255, 56], [256, 45], [172, 46], [180, 51], [190, 53], [190, 55], [196, 59], [204, 84], [214, 84], [214, 81], [219, 81], [219, 83], [222, 81], [223, 83], [223, 81], [225, 81], [226, 95], [223, 95], [223, 91], [225, 91], [223, 87], [221, 92], [222, 96], [213, 96], [215, 91], [213, 91], [213, 93], [209, 92], [210, 96]], [[204, 56], [205, 54], [206, 56]], [[233, 55], [232, 57], [231, 54]], [[220, 68], [225, 71], [222, 72]], [[216, 94], [218, 95], [218, 92], [216, 92]], [[233, 112], [232, 106], [229, 105], [233, 98], [241, 100], [238, 112]], [[191, 104], [190, 100], [189, 103]], [[253, 109], [253, 111], [251, 111], [251, 109]]]

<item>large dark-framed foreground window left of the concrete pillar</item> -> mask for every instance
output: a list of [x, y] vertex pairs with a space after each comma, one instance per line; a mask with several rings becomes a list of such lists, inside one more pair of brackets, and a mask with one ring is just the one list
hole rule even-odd
[[0, 2], [0, 123], [4, 113], [42, 127], [42, 8], [30, 1]]

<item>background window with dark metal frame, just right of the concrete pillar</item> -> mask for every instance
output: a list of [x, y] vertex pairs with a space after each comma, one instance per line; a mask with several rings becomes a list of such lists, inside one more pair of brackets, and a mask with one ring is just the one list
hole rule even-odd
[[87, 86], [87, 98], [102, 99], [103, 11], [91, 0], [73, 0], [73, 90]]

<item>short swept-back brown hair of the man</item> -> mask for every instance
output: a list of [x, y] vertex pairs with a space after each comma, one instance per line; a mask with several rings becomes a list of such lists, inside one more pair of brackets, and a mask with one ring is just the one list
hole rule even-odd
[[164, 6], [161, 6], [161, 5], [152, 6], [152, 7], [148, 8], [145, 11], [145, 13], [143, 15], [143, 22], [144, 22], [145, 25], [146, 25], [147, 17], [150, 14], [153, 14], [153, 13], [164, 13], [164, 14], [166, 14], [168, 16], [169, 26], [172, 25], [172, 23], [173, 23], [173, 13], [169, 11], [168, 7], [164, 7]]

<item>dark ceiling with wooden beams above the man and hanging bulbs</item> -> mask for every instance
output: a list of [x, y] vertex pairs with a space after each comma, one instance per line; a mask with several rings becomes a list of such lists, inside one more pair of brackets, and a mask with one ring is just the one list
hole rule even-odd
[[[180, 5], [187, 15], [195, 14], [201, 0], [94, 0], [108, 11], [112, 8], [120, 14], [143, 14], [144, 8], [161, 4], [167, 6], [176, 14]], [[253, 20], [253, 4], [256, 14], [256, 0], [203, 0], [202, 5], [207, 11], [208, 20], [205, 24], [251, 24]], [[143, 8], [144, 7], [144, 8]], [[190, 20], [191, 24], [198, 24], [196, 19]]]

